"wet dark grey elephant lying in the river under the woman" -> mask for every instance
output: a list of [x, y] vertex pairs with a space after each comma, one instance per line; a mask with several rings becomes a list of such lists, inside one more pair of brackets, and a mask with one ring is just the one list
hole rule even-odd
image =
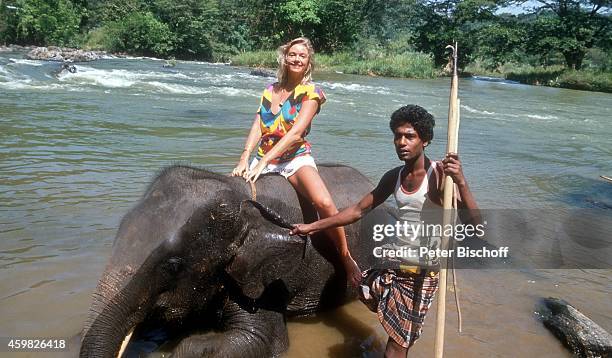
[[[359, 171], [320, 165], [339, 208], [372, 190]], [[269, 357], [287, 350], [288, 317], [355, 298], [333, 242], [324, 233], [291, 236], [287, 223], [317, 214], [279, 175], [256, 182], [175, 165], [162, 170], [122, 219], [93, 294], [81, 357], [116, 357], [143, 322], [180, 331], [176, 357]], [[346, 227], [353, 258], [373, 265], [374, 223], [385, 205]]]

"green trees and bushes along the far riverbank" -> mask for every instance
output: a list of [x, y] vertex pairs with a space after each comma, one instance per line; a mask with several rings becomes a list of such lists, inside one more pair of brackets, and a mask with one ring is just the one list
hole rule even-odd
[[[610, 0], [0, 1], [3, 43], [276, 67], [271, 50], [307, 36], [328, 69], [429, 78], [458, 41], [469, 72], [520, 77], [525, 67], [524, 81], [583, 88], [612, 68]], [[499, 13], [511, 4], [536, 6]], [[541, 73], [555, 65], [591, 72]]]

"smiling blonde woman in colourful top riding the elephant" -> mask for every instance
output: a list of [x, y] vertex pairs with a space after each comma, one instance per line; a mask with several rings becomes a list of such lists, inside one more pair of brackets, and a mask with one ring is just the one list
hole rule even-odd
[[[261, 174], [279, 173], [305, 198], [321, 218], [338, 212], [321, 180], [310, 155], [310, 143], [304, 138], [314, 116], [325, 102], [323, 91], [312, 82], [314, 49], [310, 40], [299, 37], [278, 49], [278, 82], [264, 90], [253, 126], [247, 137], [233, 176], [254, 183]], [[257, 155], [248, 165], [252, 150], [259, 143]], [[361, 271], [351, 257], [343, 228], [326, 231], [340, 252], [349, 281], [357, 286]]]

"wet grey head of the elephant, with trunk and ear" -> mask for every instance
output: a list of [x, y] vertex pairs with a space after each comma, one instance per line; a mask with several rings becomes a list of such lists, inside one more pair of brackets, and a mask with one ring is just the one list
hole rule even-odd
[[229, 276], [255, 298], [299, 267], [303, 240], [245, 201], [242, 188], [206, 174], [167, 170], [123, 218], [94, 293], [81, 356], [116, 356], [145, 319], [181, 324], [214, 317], [209, 313], [227, 294]]

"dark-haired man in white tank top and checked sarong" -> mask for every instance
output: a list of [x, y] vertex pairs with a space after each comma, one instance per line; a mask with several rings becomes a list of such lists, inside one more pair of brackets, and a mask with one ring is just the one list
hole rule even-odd
[[[425, 148], [433, 139], [434, 118], [416, 105], [401, 107], [391, 115], [395, 151], [404, 165], [389, 170], [370, 193], [357, 204], [334, 216], [311, 224], [297, 224], [292, 234], [307, 235], [331, 227], [344, 226], [361, 219], [367, 212], [394, 195], [400, 219], [412, 224], [423, 223], [422, 214], [430, 206], [442, 205], [444, 175], [449, 175], [457, 187], [459, 216], [464, 224], [480, 223], [476, 201], [463, 176], [457, 154], [448, 154], [441, 162], [425, 156]], [[404, 232], [394, 242], [382, 245], [379, 252], [394, 250], [398, 244], [414, 245], [418, 232]], [[419, 237], [420, 245], [431, 237]], [[439, 242], [439, 240], [438, 240]], [[418, 250], [417, 250], [418, 251]], [[423, 259], [425, 262], [423, 262]], [[385, 357], [406, 357], [408, 349], [421, 335], [423, 320], [438, 289], [438, 270], [431, 258], [400, 258], [392, 269], [374, 268], [363, 273], [359, 287], [360, 299], [389, 334]], [[387, 264], [387, 263], [385, 263]]]

